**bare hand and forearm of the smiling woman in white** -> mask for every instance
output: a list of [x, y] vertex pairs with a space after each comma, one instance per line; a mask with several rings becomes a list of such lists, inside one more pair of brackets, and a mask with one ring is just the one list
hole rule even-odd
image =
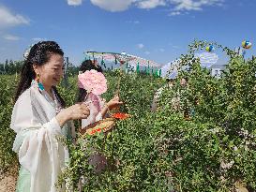
[[90, 110], [84, 103], [72, 105], [56, 115], [56, 120], [63, 126], [68, 120], [86, 119], [90, 115]]

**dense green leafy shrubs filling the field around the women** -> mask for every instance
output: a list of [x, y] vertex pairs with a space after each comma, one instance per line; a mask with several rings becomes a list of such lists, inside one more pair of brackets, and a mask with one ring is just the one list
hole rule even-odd
[[[194, 53], [206, 42], [189, 45], [181, 55], [180, 77], [188, 77], [188, 88], [179, 85], [165, 89], [156, 112], [150, 111], [154, 93], [164, 85], [155, 77], [122, 74], [121, 111], [131, 118], [119, 121], [107, 136], [79, 136], [77, 144], [68, 143], [70, 161], [60, 181], [69, 181], [78, 191], [233, 191], [246, 186], [256, 190], [256, 60], [244, 60], [227, 48], [215, 44], [230, 56], [220, 79], [200, 66]], [[113, 97], [119, 71], [106, 73], [108, 92]], [[16, 155], [11, 152], [15, 134], [9, 129], [14, 93], [13, 76], [1, 80], [1, 170], [7, 170]], [[68, 106], [75, 103], [77, 77], [59, 86]], [[2, 91], [4, 90], [4, 91]], [[173, 108], [173, 97], [180, 97], [180, 109]], [[184, 118], [184, 111], [190, 117]], [[77, 126], [79, 126], [77, 124]], [[8, 140], [7, 140], [8, 139]], [[105, 155], [108, 166], [95, 173], [88, 158]], [[2, 169], [5, 168], [5, 169]]]

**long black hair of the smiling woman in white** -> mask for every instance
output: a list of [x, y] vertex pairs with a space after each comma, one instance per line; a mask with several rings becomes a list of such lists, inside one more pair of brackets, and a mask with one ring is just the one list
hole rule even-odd
[[[36, 72], [33, 69], [33, 65], [45, 65], [47, 62], [49, 62], [52, 54], [60, 54], [61, 56], [64, 55], [62, 49], [54, 41], [40, 41], [32, 46], [24, 60], [24, 65], [21, 72], [21, 80], [18, 84], [15, 102], [19, 96], [21, 96], [23, 92], [30, 87], [32, 80], [36, 78]], [[65, 101], [59, 95], [56, 87], [53, 86], [53, 90], [56, 93], [57, 99], [61, 105], [65, 107]]]

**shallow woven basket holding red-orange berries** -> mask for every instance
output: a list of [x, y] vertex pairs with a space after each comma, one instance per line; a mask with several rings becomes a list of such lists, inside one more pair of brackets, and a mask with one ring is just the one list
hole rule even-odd
[[98, 132], [101, 132], [102, 130], [104, 133], [107, 133], [113, 128], [114, 125], [115, 125], [114, 118], [105, 118], [98, 122], [95, 122], [94, 124], [81, 128], [80, 133], [82, 135], [84, 134], [94, 135]]

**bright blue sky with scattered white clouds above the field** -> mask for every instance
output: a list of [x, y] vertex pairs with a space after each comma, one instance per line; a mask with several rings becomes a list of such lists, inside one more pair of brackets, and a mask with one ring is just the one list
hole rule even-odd
[[0, 62], [22, 59], [43, 39], [57, 41], [75, 65], [84, 51], [125, 51], [166, 64], [194, 38], [232, 49], [248, 39], [250, 57], [255, 10], [256, 0], [0, 0]]

